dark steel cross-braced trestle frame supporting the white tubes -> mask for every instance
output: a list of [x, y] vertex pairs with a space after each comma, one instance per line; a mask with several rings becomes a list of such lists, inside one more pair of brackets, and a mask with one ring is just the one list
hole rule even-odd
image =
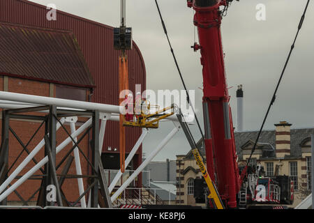
[[[29, 115], [28, 113], [33, 113], [33, 112], [43, 112], [43, 111], [49, 111], [48, 114], [46, 115]], [[26, 113], [26, 114], [25, 114]], [[66, 130], [66, 127], [64, 126], [64, 118], [68, 117], [80, 117], [80, 116], [90, 116], [89, 121], [87, 121], [87, 125], [82, 125], [84, 128], [87, 130], [84, 130], [84, 133], [82, 136], [77, 140], [77, 132], [72, 131], [72, 135], [68, 130]], [[92, 208], [97, 208], [98, 207], [98, 185], [100, 184], [101, 188], [101, 197], [103, 199], [103, 202], [99, 203], [107, 203], [105, 206], [110, 208], [110, 205], [108, 205], [108, 199], [104, 199], [107, 195], [108, 198], [108, 193], [104, 190], [107, 188], [107, 183], [105, 182], [105, 178], [103, 178], [104, 173], [103, 171], [100, 171], [102, 168], [102, 165], [100, 164], [100, 149], [99, 149], [99, 112], [98, 111], [76, 111], [76, 110], [70, 110], [70, 109], [57, 109], [55, 105], [49, 105], [49, 106], [40, 106], [40, 107], [29, 107], [29, 108], [22, 108], [22, 109], [6, 109], [3, 110], [2, 112], [2, 146], [1, 146], [1, 155], [0, 155], [0, 164], [1, 164], [1, 169], [3, 169], [1, 173], [1, 192], [6, 189], [8, 185], [10, 185], [10, 181], [12, 181], [14, 178], [18, 178], [17, 182], [15, 182], [13, 185], [8, 187], [7, 190], [5, 190], [1, 195], [0, 195], [0, 200], [1, 200], [1, 205], [6, 205], [6, 194], [10, 194], [10, 191], [15, 191], [19, 199], [22, 201], [24, 205], [27, 205], [27, 203], [38, 193], [38, 201], [37, 205], [38, 206], [54, 206], [54, 201], [47, 201], [47, 190], [45, 190], [49, 185], [54, 185], [56, 192], [57, 192], [57, 205], [58, 206], [75, 206], [75, 204], [78, 201], [82, 201], [82, 198], [84, 197], [87, 192], [90, 192], [91, 194], [91, 207]], [[36, 134], [38, 134], [40, 128], [45, 125], [45, 135], [43, 139], [43, 143], [45, 144], [45, 157], [42, 162], [44, 164], [44, 169], [41, 168], [40, 163], [38, 164], [37, 160], [35, 160], [34, 156], [40, 151], [36, 150], [33, 154], [31, 154], [27, 148], [27, 145], [31, 141], [31, 139], [28, 141], [27, 145], [24, 145], [22, 143], [22, 140], [18, 136], [18, 134], [13, 130], [13, 128], [10, 127], [10, 119], [11, 118], [17, 118], [17, 119], [23, 119], [23, 120], [36, 120], [36, 121], [42, 121], [40, 123], [39, 128], [34, 132], [34, 134], [31, 135], [31, 139], [33, 139]], [[61, 120], [60, 120], [61, 119]], [[73, 118], [72, 118], [73, 119]], [[63, 132], [66, 133], [68, 136], [68, 143], [72, 141], [73, 147], [66, 153], [64, 157], [62, 157], [61, 161], [59, 164], [56, 163], [56, 155], [59, 151], [57, 151], [57, 123], [59, 123], [58, 128], [62, 128]], [[85, 124], [86, 124], [85, 123]], [[73, 125], [72, 125], [73, 126]], [[83, 130], [83, 129], [82, 129]], [[80, 132], [82, 132], [82, 130]], [[19, 155], [16, 157], [15, 161], [13, 164], [8, 167], [8, 156], [10, 153], [9, 149], [9, 132], [12, 132], [13, 137], [17, 139], [17, 141], [20, 143], [22, 146], [22, 151], [19, 153]], [[87, 155], [84, 154], [84, 151], [79, 146], [80, 141], [84, 139], [84, 137], [87, 136], [87, 133], [91, 132], [91, 160], [88, 159]], [[76, 134], [75, 134], [76, 133]], [[75, 138], [75, 139], [74, 139]], [[70, 139], [70, 140], [69, 140]], [[64, 141], [63, 141], [64, 142]], [[41, 144], [41, 145], [42, 145]], [[66, 144], [63, 144], [63, 148], [66, 146]], [[68, 174], [68, 168], [69, 168], [69, 162], [66, 164], [66, 168], [63, 169], [62, 173], [63, 174], [57, 174], [57, 170], [59, 167], [61, 167], [61, 164], [65, 162], [68, 157], [70, 157], [70, 153], [72, 151], [76, 150], [77, 152], [79, 151], [82, 157], [85, 158], [89, 166], [91, 167], [91, 174], [87, 174], [86, 176], [80, 174], [80, 175], [69, 175]], [[8, 171], [13, 168], [14, 164], [17, 162], [17, 160], [21, 157], [22, 153], [26, 151], [28, 153], [28, 160], [33, 160], [33, 162], [36, 164], [35, 168], [33, 167], [33, 170], [31, 173], [34, 171], [40, 170], [42, 172], [41, 176], [36, 176], [37, 180], [41, 180], [41, 185], [38, 190], [27, 200], [23, 199], [20, 194], [15, 190], [18, 186], [20, 186], [22, 183], [24, 183], [25, 180], [29, 177], [22, 176], [21, 178], [17, 177], [16, 175], [20, 171], [15, 171], [13, 172], [13, 176], [9, 178], [8, 176]], [[31, 154], [31, 155], [30, 155]], [[77, 157], [80, 157], [79, 155]], [[75, 157], [77, 159], [77, 157]], [[72, 159], [73, 160], [73, 159]], [[80, 162], [80, 160], [75, 160], [77, 163]], [[27, 165], [28, 161], [23, 160], [22, 163], [20, 164], [19, 169], [23, 169]], [[22, 165], [22, 166], [21, 166]], [[100, 168], [101, 167], [101, 168]], [[29, 173], [29, 172], [28, 172]], [[31, 175], [31, 173], [29, 175]], [[81, 170], [82, 173], [82, 170]], [[60, 179], [58, 180], [58, 176]], [[24, 178], [23, 178], [24, 177]], [[77, 178], [81, 179], [82, 178], [88, 178], [89, 179], [89, 188], [85, 191], [80, 190], [80, 197], [75, 201], [75, 203], [70, 204], [66, 200], [65, 194], [61, 190], [61, 185], [64, 182], [66, 178]], [[34, 179], [34, 178], [33, 178]], [[20, 180], [20, 181], [19, 181]], [[80, 185], [80, 184], [79, 184]], [[80, 185], [84, 187], [84, 185]], [[12, 188], [11, 188], [12, 187]], [[99, 194], [100, 195], [100, 194]], [[100, 197], [100, 196], [99, 196]], [[84, 205], [82, 205], [84, 206]], [[86, 205], [85, 205], [86, 207]]]

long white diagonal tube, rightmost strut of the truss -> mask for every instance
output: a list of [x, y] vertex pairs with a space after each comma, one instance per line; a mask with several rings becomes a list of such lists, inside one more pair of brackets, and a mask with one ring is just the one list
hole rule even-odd
[[115, 192], [112, 195], [112, 197], [111, 197], [112, 202], [117, 199], [119, 194], [121, 194], [121, 192], [123, 192], [124, 189], [126, 187], [128, 187], [128, 185], [132, 182], [132, 180], [134, 180], [137, 177], [137, 175], [140, 174], [140, 172], [147, 166], [147, 164], [149, 164], [149, 162], [151, 162], [151, 160], [154, 159], [154, 157], [157, 155], [157, 153], [159, 151], [161, 151], [163, 149], [163, 147], [165, 147], [165, 145], [168, 143], [168, 141], [170, 141], [170, 139], [172, 139], [172, 137], [174, 137], [174, 134], [176, 134], [179, 131], [179, 125], [177, 123], [174, 123], [174, 125], [176, 127], [167, 135], [167, 137], [165, 137], [165, 139], [163, 139], [163, 141], [160, 142], [160, 144], [156, 147], [156, 149], [147, 157], [147, 159], [144, 162], [142, 162], [142, 164], [140, 164], [140, 167], [138, 167], [134, 171], [134, 173], [124, 182], [124, 184], [121, 185], [121, 187], [119, 187], [117, 192]]

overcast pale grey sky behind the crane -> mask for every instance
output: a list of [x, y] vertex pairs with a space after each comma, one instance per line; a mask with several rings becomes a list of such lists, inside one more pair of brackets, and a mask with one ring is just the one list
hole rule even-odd
[[[119, 0], [33, 0], [47, 6], [101, 22], [119, 26]], [[177, 55], [188, 89], [195, 90], [197, 116], [202, 118], [202, 66], [200, 52], [193, 52], [193, 10], [185, 0], [159, 0], [160, 10]], [[255, 7], [266, 6], [266, 21], [257, 21]], [[160, 24], [154, 0], [127, 0], [126, 23], [133, 27], [133, 39], [140, 47], [147, 69], [147, 89], [183, 89]], [[234, 126], [237, 125], [235, 93], [244, 86], [244, 129], [257, 130], [267, 110], [276, 82], [297, 32], [306, 0], [241, 0], [234, 1], [223, 18], [222, 36], [227, 83]], [[308, 6], [304, 26], [287, 66], [277, 98], [271, 108], [265, 129], [274, 123], [288, 121], [292, 128], [314, 126], [314, 5]], [[152, 130], [144, 141], [143, 152], [149, 155], [156, 144], [172, 130], [172, 123], [163, 123]], [[200, 138], [196, 125], [195, 139]], [[190, 150], [182, 132], [154, 160], [175, 159]]]

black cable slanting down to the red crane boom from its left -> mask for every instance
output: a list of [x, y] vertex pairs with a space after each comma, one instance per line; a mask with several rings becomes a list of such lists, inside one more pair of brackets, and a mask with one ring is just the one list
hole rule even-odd
[[165, 31], [165, 35], [167, 36], [167, 40], [168, 40], [168, 43], [169, 43], [169, 46], [170, 46], [170, 51], [172, 52], [172, 56], [173, 56], [173, 59], [174, 59], [174, 63], [176, 63], [177, 70], [178, 70], [179, 75], [180, 75], [180, 78], [181, 78], [181, 82], [182, 82], [182, 84], [183, 84], [183, 86], [184, 86], [184, 89], [185, 89], [185, 91], [186, 91], [186, 95], [187, 95], [186, 100], [188, 101], [188, 104], [190, 105], [190, 107], [192, 107], [192, 109], [193, 109], [193, 113], [194, 113], [194, 115], [195, 115], [195, 120], [196, 120], [196, 122], [197, 122], [197, 126], [198, 126], [198, 128], [199, 128], [199, 130], [200, 130], [200, 133], [202, 134], [202, 139], [204, 140], [204, 134], [203, 134], [203, 132], [202, 132], [202, 128], [200, 127], [200, 122], [198, 121], [198, 118], [197, 118], [197, 116], [196, 116], [195, 109], [194, 109], [193, 105], [190, 104], [190, 95], [188, 94], [188, 89], [186, 89], [186, 84], [185, 84], [184, 79], [183, 79], [183, 77], [182, 77], [181, 70], [180, 70], [179, 64], [178, 64], [178, 62], [177, 62], [177, 58], [176, 58], [176, 56], [175, 56], [175, 54], [174, 54], [174, 50], [172, 49], [172, 45], [171, 45], [170, 40], [169, 40], [169, 36], [168, 36], [168, 33], [167, 33], [167, 29], [166, 29], [166, 26], [165, 26], [165, 22], [163, 22], [163, 16], [162, 16], [161, 13], [160, 13], [160, 9], [159, 9], [157, 0], [155, 0], [155, 2], [156, 2], [156, 6], [157, 6], [157, 9], [158, 9], [159, 16], [160, 16], [161, 24], [163, 24], [163, 31]]

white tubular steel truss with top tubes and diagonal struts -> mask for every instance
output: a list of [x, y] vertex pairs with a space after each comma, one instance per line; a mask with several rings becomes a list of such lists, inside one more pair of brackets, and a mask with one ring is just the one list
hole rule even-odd
[[[100, 103], [94, 103], [94, 102], [81, 102], [81, 101], [75, 101], [75, 100], [64, 100], [59, 98], [48, 98], [48, 97], [42, 97], [42, 96], [36, 96], [36, 95], [26, 95], [21, 93], [9, 93], [0, 91], [0, 108], [1, 109], [24, 109], [28, 107], [36, 107], [36, 106], [46, 106], [46, 105], [54, 105], [58, 109], [72, 109], [75, 111], [90, 111], [90, 110], [97, 110], [100, 112], [100, 129], [99, 129], [99, 153], [101, 153], [101, 148], [103, 148], [103, 141], [105, 136], [105, 128], [107, 121], [119, 121], [119, 112], [123, 111], [124, 107], [116, 106], [116, 105], [104, 105]], [[49, 112], [49, 111], [42, 111], [42, 112]], [[186, 116], [186, 115], [185, 115]], [[77, 117], [67, 117], [67, 118], [61, 118], [60, 123], [70, 123], [70, 135], [75, 141], [77, 141], [77, 136], [82, 134], [84, 130], [89, 128], [92, 124], [91, 118], [89, 118], [88, 121], [86, 121], [83, 125], [80, 126], [80, 128], [75, 127], [75, 123], [77, 121]], [[167, 137], [163, 139], [160, 144], [156, 146], [153, 152], [151, 152], [147, 159], [140, 164], [139, 167], [133, 172], [133, 174], [119, 187], [117, 192], [115, 192], [112, 197], [111, 201], [113, 202], [117, 197], [119, 197], [119, 194], [123, 192], [130, 183], [140, 174], [140, 172], [151, 162], [151, 160], [156, 157], [156, 155], [165, 147], [165, 145], [174, 137], [174, 135], [179, 132], [180, 124], [177, 119], [176, 115], [170, 116], [166, 118], [166, 121], [171, 121], [174, 124], [174, 129], [167, 134]], [[57, 130], [61, 127], [61, 124], [57, 123]], [[133, 146], [132, 151], [126, 157], [125, 163], [126, 166], [130, 163], [130, 161], [133, 159], [135, 153], [137, 152], [138, 148], [140, 148], [140, 145], [144, 141], [145, 137], [149, 133], [149, 130], [143, 129], [142, 134], [140, 135], [139, 139], [137, 139], [137, 142]], [[64, 141], [61, 142], [56, 148], [56, 154], [63, 150], [70, 142], [73, 140], [71, 137], [67, 137]], [[45, 140], [43, 139], [40, 141], [40, 143], [33, 148], [31, 153], [27, 155], [27, 157], [20, 163], [20, 165], [4, 180], [4, 182], [0, 185], [0, 202], [3, 201], [3, 199], [6, 199], [9, 194], [14, 192], [17, 187], [20, 187], [22, 183], [24, 183], [28, 178], [30, 178], [38, 169], [43, 167], [48, 162], [48, 157], [44, 157], [43, 160], [40, 160], [34, 167], [32, 167], [29, 171], [27, 171], [26, 174], [24, 174], [21, 178], [19, 178], [13, 185], [8, 187], [10, 183], [17, 177], [18, 174], [26, 167], [26, 165], [33, 159], [33, 157], [45, 146]], [[75, 146], [75, 143], [73, 142], [73, 146]], [[80, 162], [80, 155], [78, 148], [75, 148], [73, 150], [74, 156], [75, 156], [75, 169], [77, 175], [82, 174], [82, 167]], [[112, 183], [109, 185], [108, 190], [109, 193], [112, 192], [115, 185], [121, 178], [122, 173], [121, 170], [119, 170], [118, 174], [114, 177], [114, 180], [112, 180]], [[84, 185], [82, 178], [77, 178], [78, 183], [78, 189], [80, 192], [80, 196], [84, 192]], [[8, 187], [8, 188], [7, 188]], [[80, 203], [82, 208], [88, 208], [90, 207], [90, 193], [89, 193], [89, 199], [88, 203], [85, 199], [85, 196], [81, 196]]]

